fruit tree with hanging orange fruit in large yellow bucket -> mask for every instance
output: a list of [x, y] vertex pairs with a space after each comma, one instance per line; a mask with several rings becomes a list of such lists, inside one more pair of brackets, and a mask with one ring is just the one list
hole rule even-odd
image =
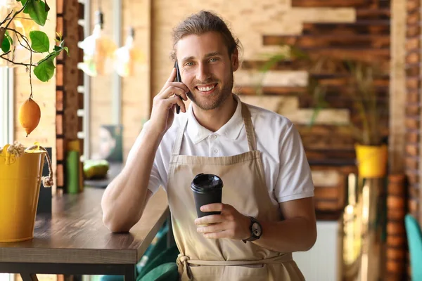
[[[60, 34], [50, 46], [47, 34], [39, 30], [48, 18], [46, 0], [8, 0], [0, 6], [0, 62], [6, 67], [26, 67], [30, 94], [20, 106], [20, 125], [29, 134], [39, 124], [41, 110], [32, 99], [32, 72], [40, 81], [49, 81], [56, 68], [54, 59], [68, 53]], [[39, 57], [37, 62], [34, 58]], [[49, 176], [41, 178], [44, 157]], [[29, 240], [33, 237], [41, 181], [53, 185], [51, 159], [45, 148], [20, 143], [0, 148], [0, 242]]]

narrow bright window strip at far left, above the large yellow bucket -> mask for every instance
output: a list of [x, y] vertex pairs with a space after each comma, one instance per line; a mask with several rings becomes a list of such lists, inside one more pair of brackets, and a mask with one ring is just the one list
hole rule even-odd
[[0, 67], [0, 146], [13, 142], [13, 69]]

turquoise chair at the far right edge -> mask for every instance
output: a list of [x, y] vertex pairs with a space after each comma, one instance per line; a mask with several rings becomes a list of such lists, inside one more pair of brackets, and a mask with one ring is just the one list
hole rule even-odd
[[422, 280], [422, 231], [418, 221], [410, 214], [405, 216], [404, 224], [409, 244], [411, 280]]

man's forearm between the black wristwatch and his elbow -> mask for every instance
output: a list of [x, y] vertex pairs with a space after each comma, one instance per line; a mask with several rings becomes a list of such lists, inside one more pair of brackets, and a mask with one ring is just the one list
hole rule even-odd
[[316, 240], [314, 223], [306, 218], [289, 218], [286, 221], [260, 221], [262, 236], [255, 240], [261, 247], [281, 253], [307, 251]]

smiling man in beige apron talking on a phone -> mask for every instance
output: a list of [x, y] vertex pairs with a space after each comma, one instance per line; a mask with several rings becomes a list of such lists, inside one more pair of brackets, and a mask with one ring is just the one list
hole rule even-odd
[[[232, 93], [238, 41], [207, 11], [174, 30], [176, 70], [102, 200], [103, 221], [128, 231], [160, 185], [167, 191], [182, 280], [304, 280], [292, 260], [316, 240], [314, 185], [295, 126]], [[192, 101], [186, 110], [184, 101]], [[184, 114], [175, 117], [179, 105]], [[191, 181], [224, 183], [222, 204], [196, 217]]]

